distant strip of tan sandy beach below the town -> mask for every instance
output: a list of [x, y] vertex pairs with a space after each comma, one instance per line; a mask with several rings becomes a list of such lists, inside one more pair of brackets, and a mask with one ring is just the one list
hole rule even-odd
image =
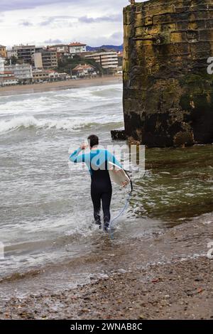
[[92, 87], [101, 85], [111, 85], [122, 83], [122, 76], [104, 76], [94, 79], [67, 80], [48, 83], [39, 83], [33, 85], [17, 85], [0, 87], [0, 97], [33, 92], [50, 92], [54, 90], [69, 90], [73, 88]]

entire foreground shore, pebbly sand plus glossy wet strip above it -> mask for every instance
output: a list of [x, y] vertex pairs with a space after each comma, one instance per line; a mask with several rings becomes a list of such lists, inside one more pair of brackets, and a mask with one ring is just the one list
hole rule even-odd
[[[107, 253], [87, 255], [79, 263], [90, 271], [99, 266], [108, 274], [94, 274], [89, 284], [75, 289], [38, 291], [1, 301], [0, 318], [211, 319], [213, 260], [207, 258], [207, 244], [212, 239], [212, 223], [195, 220], [133, 239], [128, 246], [110, 246]], [[124, 263], [126, 270], [119, 270]], [[73, 271], [77, 264], [68, 266]], [[37, 279], [42, 275], [51, 280], [50, 272], [38, 274]], [[7, 284], [16, 291], [17, 281]], [[19, 284], [23, 286], [24, 279]]]

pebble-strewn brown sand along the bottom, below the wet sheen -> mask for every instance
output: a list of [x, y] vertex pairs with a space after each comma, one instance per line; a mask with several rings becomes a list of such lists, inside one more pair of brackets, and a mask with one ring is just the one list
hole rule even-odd
[[211, 319], [209, 270], [209, 260], [191, 259], [117, 274], [62, 293], [12, 298], [1, 319]]

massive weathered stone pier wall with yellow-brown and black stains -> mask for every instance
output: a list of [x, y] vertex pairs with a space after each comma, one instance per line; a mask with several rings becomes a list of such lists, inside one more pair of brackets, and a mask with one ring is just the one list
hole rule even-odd
[[147, 146], [213, 142], [213, 0], [124, 9], [126, 135]]

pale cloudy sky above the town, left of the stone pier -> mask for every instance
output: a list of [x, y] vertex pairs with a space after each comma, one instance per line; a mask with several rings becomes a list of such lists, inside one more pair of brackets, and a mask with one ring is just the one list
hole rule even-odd
[[0, 0], [0, 44], [121, 45], [128, 0]]

